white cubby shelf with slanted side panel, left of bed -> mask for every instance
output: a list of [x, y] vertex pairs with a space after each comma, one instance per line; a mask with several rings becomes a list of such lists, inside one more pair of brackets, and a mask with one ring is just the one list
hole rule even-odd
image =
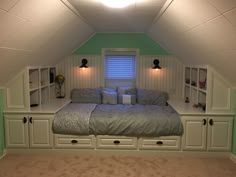
[[30, 111], [55, 98], [55, 67], [26, 67], [5, 87], [5, 111]]

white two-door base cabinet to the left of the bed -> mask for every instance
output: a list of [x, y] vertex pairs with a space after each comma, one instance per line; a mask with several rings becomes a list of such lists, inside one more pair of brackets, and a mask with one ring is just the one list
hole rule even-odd
[[51, 148], [53, 145], [52, 115], [6, 114], [7, 148]]

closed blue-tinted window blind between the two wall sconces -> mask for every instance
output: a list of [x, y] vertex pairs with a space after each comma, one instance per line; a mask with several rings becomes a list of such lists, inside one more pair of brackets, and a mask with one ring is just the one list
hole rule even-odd
[[106, 55], [105, 79], [134, 80], [135, 55]]

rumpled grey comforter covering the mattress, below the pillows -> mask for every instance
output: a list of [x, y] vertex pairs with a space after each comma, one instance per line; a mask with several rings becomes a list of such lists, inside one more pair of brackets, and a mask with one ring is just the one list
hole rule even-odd
[[183, 125], [171, 106], [71, 103], [56, 113], [53, 131], [151, 137], [182, 135]]

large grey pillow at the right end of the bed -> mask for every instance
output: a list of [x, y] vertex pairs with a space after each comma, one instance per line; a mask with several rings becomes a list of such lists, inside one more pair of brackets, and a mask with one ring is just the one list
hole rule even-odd
[[166, 92], [145, 89], [137, 90], [138, 104], [165, 106], [167, 100], [168, 94]]

